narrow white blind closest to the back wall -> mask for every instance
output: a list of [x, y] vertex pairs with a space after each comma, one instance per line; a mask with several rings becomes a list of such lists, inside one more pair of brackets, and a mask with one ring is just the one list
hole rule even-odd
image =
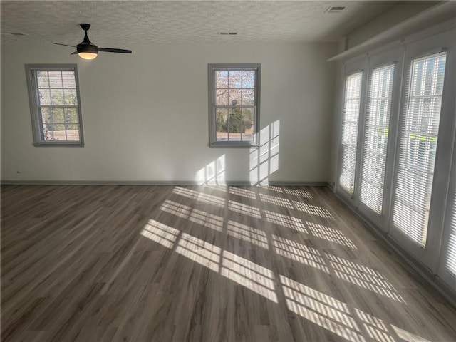
[[350, 195], [353, 194], [355, 183], [356, 144], [362, 81], [362, 71], [353, 73], [347, 76], [345, 86], [341, 142], [342, 165], [339, 185]]

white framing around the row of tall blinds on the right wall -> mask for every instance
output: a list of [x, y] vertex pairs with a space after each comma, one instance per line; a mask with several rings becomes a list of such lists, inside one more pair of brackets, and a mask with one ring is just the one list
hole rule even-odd
[[[414, 36], [405, 37], [402, 41], [395, 41], [386, 46], [379, 47], [375, 51], [351, 58], [344, 63], [344, 76], [353, 73], [353, 70], [365, 69], [366, 86], [363, 92], [364, 103], [360, 111], [358, 122], [358, 143], [357, 143], [357, 165], [355, 175], [355, 185], [353, 195], [348, 194], [336, 182], [336, 193], [349, 206], [356, 210], [361, 216], [382, 232], [391, 244], [403, 251], [405, 255], [418, 265], [420, 270], [437, 274], [442, 272], [441, 254], [442, 245], [445, 245], [442, 239], [445, 239], [444, 217], [445, 208], [449, 205], [447, 199], [448, 184], [450, 179], [452, 146], [456, 135], [456, 118], [455, 118], [455, 90], [456, 79], [452, 77], [456, 73], [456, 43], [454, 41], [455, 26], [450, 28], [443, 27], [440, 31], [433, 28], [430, 31], [415, 33]], [[430, 34], [428, 34], [429, 32]], [[400, 132], [403, 125], [403, 108], [408, 102], [408, 77], [411, 62], [423, 56], [429, 56], [434, 53], [445, 51], [445, 81], [442, 93], [442, 107], [440, 114], [440, 125], [438, 130], [437, 150], [435, 156], [435, 170], [432, 182], [432, 194], [430, 198], [430, 214], [428, 219], [427, 241], [425, 247], [410, 239], [407, 234], [397, 227], [393, 226], [394, 199], [398, 175], [398, 157], [400, 152]], [[361, 186], [361, 157], [363, 155], [363, 144], [365, 135], [366, 110], [368, 103], [367, 81], [371, 77], [373, 69], [378, 66], [395, 62], [395, 81], [393, 84], [392, 108], [390, 112], [390, 125], [388, 133], [387, 161], [385, 170], [385, 182], [383, 187], [383, 207], [382, 214], [378, 215], [369, 209], [360, 200]], [[341, 87], [344, 87], [346, 78], [343, 78]], [[344, 97], [341, 96], [340, 103], [343, 104]], [[343, 105], [341, 106], [343, 107]], [[342, 130], [342, 115], [339, 115], [339, 135]], [[341, 175], [341, 136], [339, 136], [339, 152], [337, 177]], [[453, 171], [455, 172], [455, 171]], [[455, 290], [455, 286], [451, 286]]]

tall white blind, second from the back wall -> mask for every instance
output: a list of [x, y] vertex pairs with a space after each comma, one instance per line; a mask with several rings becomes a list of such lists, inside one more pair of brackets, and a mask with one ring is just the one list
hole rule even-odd
[[377, 214], [381, 214], [383, 206], [393, 79], [394, 65], [383, 66], [372, 71], [369, 84], [360, 199]]

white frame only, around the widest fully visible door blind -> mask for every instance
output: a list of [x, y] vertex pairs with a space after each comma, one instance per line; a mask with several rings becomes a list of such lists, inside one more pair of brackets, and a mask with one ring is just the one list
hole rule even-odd
[[[432, 55], [446, 51], [446, 65], [445, 65], [445, 81], [442, 93], [442, 106], [440, 109], [440, 125], [438, 130], [437, 150], [435, 155], [435, 169], [432, 181], [432, 192], [430, 199], [429, 217], [428, 217], [428, 229], [426, 246], [422, 247], [404, 234], [400, 229], [395, 228], [393, 225], [393, 210], [394, 210], [394, 196], [396, 189], [396, 175], [398, 172], [398, 157], [399, 157], [399, 140], [396, 146], [395, 152], [395, 167], [393, 176], [393, 193], [391, 198], [390, 207], [390, 227], [388, 229], [389, 234], [393, 239], [396, 240], [403, 248], [405, 248], [410, 254], [416, 257], [420, 263], [427, 266], [433, 272], [437, 272], [437, 265], [440, 259], [440, 245], [442, 241], [442, 227], [443, 218], [446, 207], [446, 194], [448, 179], [450, 178], [450, 165], [452, 153], [452, 123], [453, 116], [455, 115], [455, 80], [451, 75], [455, 74], [455, 43], [454, 31], [445, 31], [443, 33], [436, 34], [427, 38], [420, 39], [413, 43], [407, 44], [404, 58], [403, 68], [403, 96], [400, 103], [400, 115], [403, 115], [402, 111], [407, 105], [406, 101], [408, 96], [405, 96], [408, 89], [408, 73], [410, 71], [411, 63], [414, 59], [423, 56]], [[450, 48], [448, 48], [450, 46]], [[398, 134], [400, 127], [398, 127]]]

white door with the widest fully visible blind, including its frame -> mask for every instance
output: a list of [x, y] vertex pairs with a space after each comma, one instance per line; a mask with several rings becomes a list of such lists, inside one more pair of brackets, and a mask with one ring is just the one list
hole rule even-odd
[[445, 155], [454, 113], [450, 110], [454, 88], [445, 84], [449, 65], [448, 51], [442, 48], [445, 42], [445, 35], [432, 37], [409, 44], [406, 51], [390, 219], [390, 234], [435, 271], [442, 237], [442, 194], [447, 191], [449, 173]]

